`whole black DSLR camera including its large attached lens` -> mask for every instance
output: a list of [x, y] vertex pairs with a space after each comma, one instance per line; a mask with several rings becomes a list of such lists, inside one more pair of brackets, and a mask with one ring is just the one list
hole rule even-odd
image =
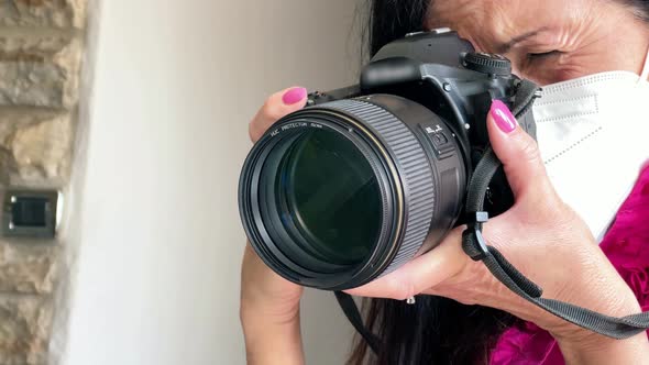
[[[521, 85], [508, 59], [475, 53], [449, 30], [386, 45], [359, 85], [310, 93], [251, 151], [239, 198], [253, 248], [283, 277], [327, 290], [432, 250], [463, 222], [493, 100], [514, 107]], [[535, 136], [531, 113], [518, 122]], [[501, 170], [486, 209], [513, 202]]]

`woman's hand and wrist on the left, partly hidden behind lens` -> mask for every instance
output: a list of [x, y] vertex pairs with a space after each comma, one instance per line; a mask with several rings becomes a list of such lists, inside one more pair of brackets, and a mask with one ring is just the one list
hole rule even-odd
[[[271, 96], [250, 123], [256, 142], [278, 119], [301, 109], [304, 88]], [[250, 246], [241, 267], [240, 316], [249, 364], [304, 364], [299, 332], [299, 300], [302, 288], [270, 269]]]

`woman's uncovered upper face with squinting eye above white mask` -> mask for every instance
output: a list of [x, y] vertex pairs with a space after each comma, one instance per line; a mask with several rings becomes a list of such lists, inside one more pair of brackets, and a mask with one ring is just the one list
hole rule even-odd
[[481, 52], [512, 59], [541, 85], [629, 70], [639, 74], [649, 24], [607, 0], [433, 0], [427, 29], [448, 26]]

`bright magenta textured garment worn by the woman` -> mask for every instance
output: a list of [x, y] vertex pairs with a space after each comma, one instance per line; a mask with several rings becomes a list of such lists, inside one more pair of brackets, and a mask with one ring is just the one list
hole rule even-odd
[[[623, 203], [615, 222], [600, 245], [636, 294], [642, 310], [649, 310], [649, 165]], [[492, 352], [491, 365], [564, 364], [557, 342], [534, 323], [507, 330]]]

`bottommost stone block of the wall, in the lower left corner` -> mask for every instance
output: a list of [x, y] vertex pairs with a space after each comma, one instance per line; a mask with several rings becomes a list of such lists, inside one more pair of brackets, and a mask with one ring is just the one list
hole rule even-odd
[[46, 297], [0, 296], [0, 364], [44, 364], [51, 323]]

